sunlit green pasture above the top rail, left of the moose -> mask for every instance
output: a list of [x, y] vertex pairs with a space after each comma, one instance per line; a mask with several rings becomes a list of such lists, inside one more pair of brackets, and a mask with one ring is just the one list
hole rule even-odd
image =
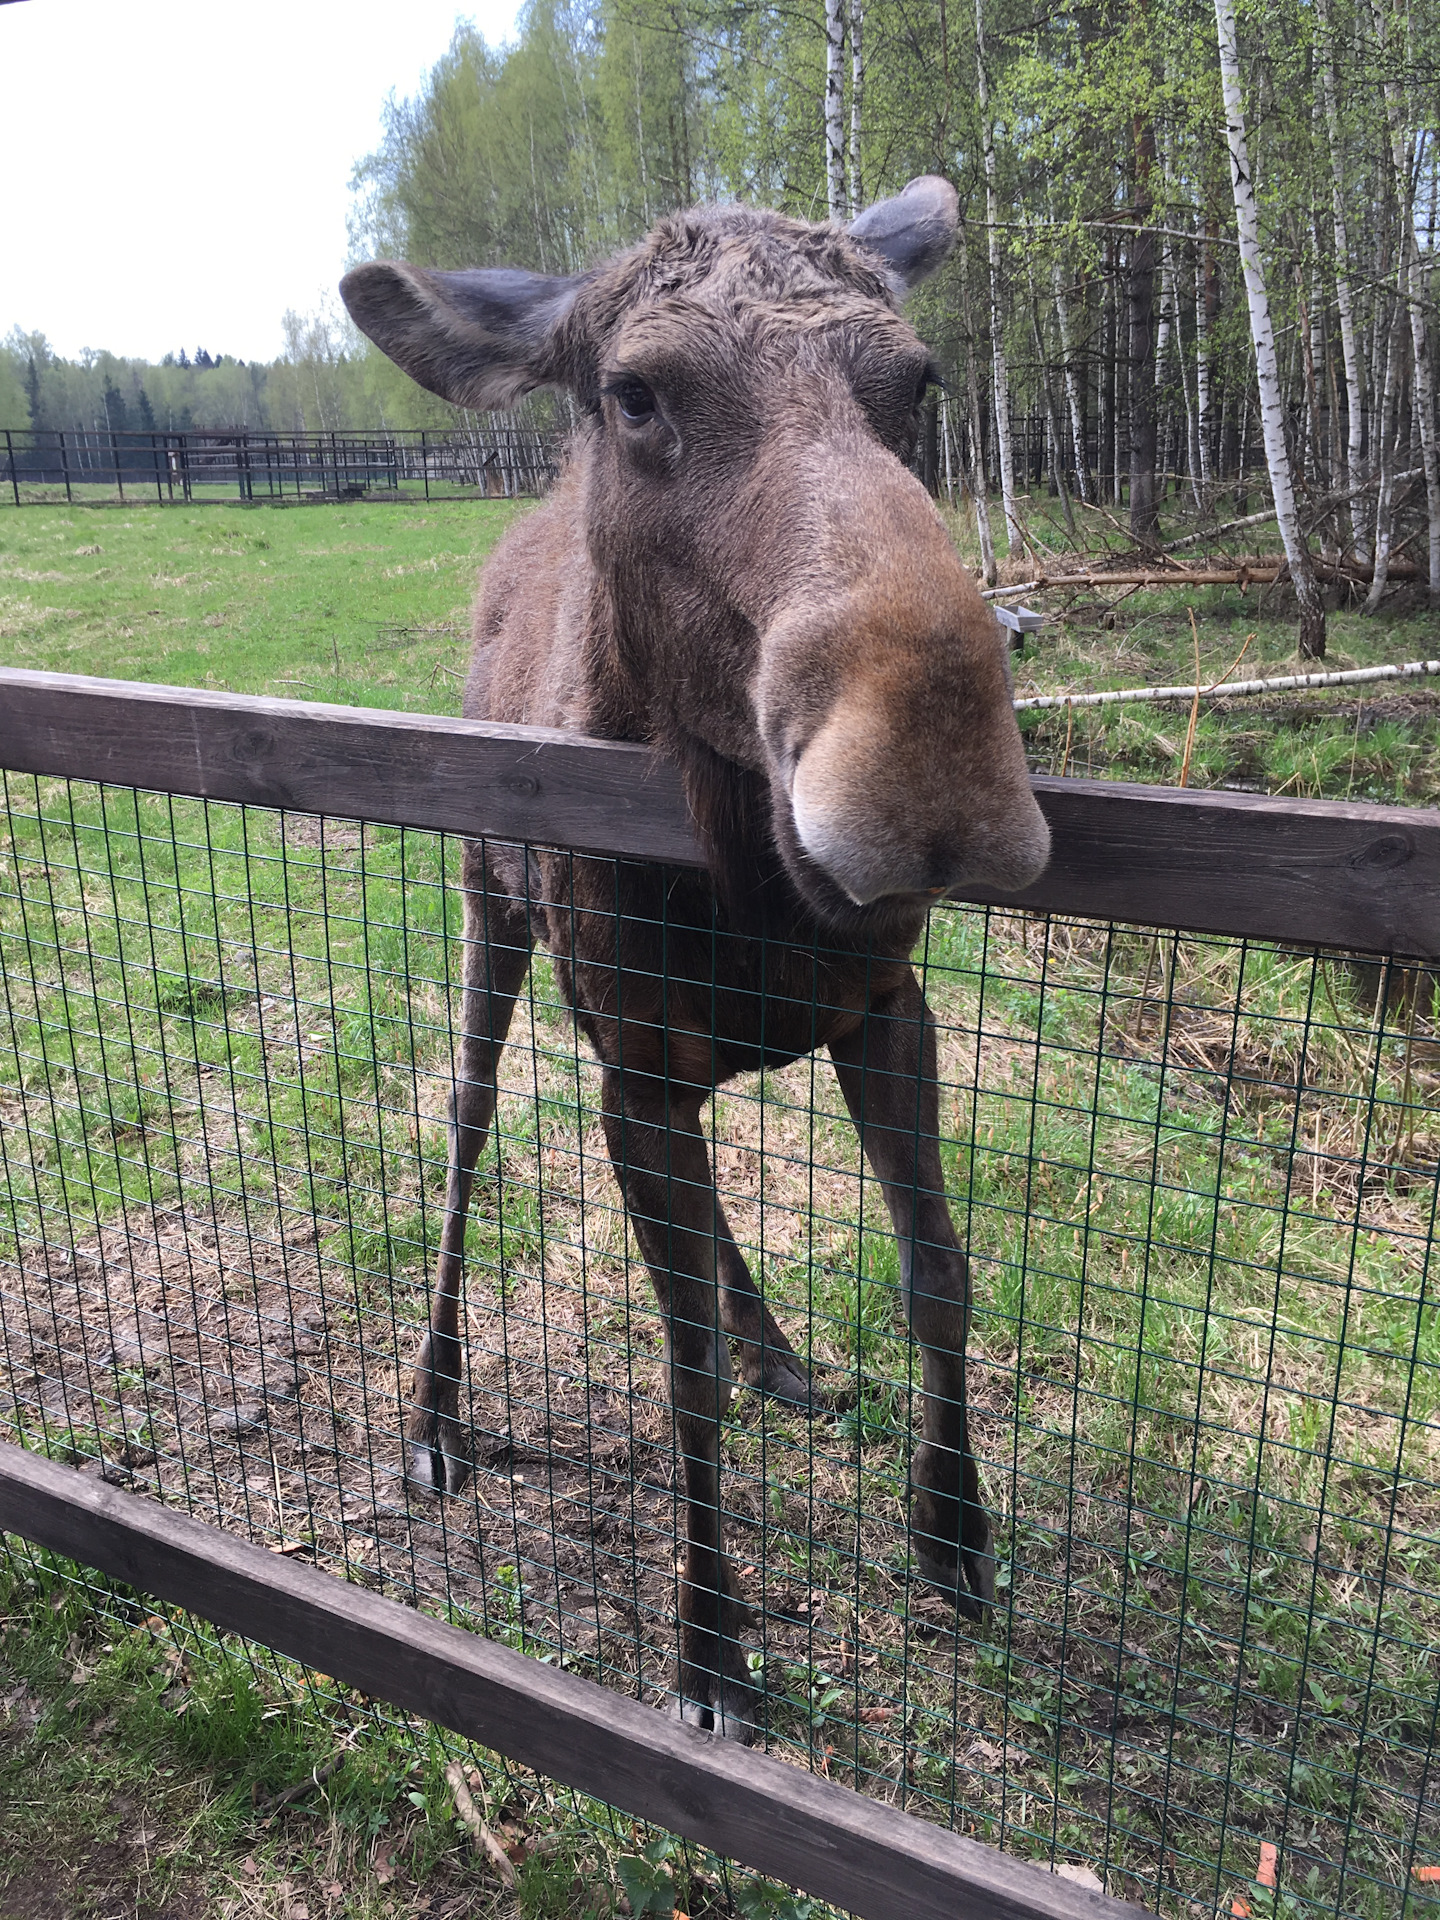
[[526, 501], [0, 515], [0, 662], [457, 712], [476, 564]]

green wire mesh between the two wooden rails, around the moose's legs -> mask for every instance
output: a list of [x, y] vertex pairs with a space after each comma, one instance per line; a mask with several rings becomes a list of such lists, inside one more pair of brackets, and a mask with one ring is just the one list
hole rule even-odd
[[[472, 1475], [426, 1501], [459, 847], [15, 774], [6, 801], [0, 1438], [662, 1701], [662, 1329], [551, 962], [470, 1212]], [[716, 1185], [824, 1402], [741, 1392], [722, 1438], [766, 1743], [1158, 1912], [1229, 1912], [1261, 1841], [1296, 1912], [1419, 1910], [1434, 977], [968, 906], [916, 964], [998, 1605], [973, 1626], [908, 1576], [920, 1365], [828, 1062], [732, 1081]]]

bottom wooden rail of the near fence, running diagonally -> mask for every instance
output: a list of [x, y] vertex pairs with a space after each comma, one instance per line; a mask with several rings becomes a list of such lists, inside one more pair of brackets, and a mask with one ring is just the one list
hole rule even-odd
[[866, 1920], [1119, 1920], [1125, 1910], [1041, 1866], [8, 1444], [0, 1530]]

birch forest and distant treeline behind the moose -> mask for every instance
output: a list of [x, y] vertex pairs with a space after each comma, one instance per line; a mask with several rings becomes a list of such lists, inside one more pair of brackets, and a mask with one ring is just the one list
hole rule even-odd
[[[1260, 509], [1319, 651], [1336, 568], [1375, 603], [1402, 572], [1440, 593], [1438, 121], [1436, 0], [532, 0], [513, 44], [461, 23], [392, 96], [351, 252], [574, 271], [695, 202], [845, 221], [945, 173], [962, 238], [914, 317], [987, 572], [1035, 551], [1037, 492], [1068, 547]], [[154, 367], [15, 330], [0, 415], [449, 419], [338, 307], [284, 336], [269, 365]]]

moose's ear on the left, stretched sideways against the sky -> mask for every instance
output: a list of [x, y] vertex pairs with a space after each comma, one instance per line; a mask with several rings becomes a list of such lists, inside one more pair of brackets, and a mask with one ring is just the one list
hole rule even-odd
[[376, 259], [351, 269], [351, 321], [420, 386], [457, 407], [511, 407], [563, 378], [557, 330], [580, 278], [476, 267], [436, 273]]

